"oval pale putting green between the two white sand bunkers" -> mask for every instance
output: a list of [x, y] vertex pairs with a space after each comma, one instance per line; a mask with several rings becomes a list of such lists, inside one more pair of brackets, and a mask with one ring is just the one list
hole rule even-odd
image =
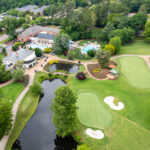
[[79, 121], [88, 127], [104, 129], [112, 121], [111, 114], [95, 93], [80, 93], [77, 107]]

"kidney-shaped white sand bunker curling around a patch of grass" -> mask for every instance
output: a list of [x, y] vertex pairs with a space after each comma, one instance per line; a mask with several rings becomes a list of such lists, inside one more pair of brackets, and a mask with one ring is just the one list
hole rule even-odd
[[111, 109], [121, 110], [124, 108], [124, 104], [122, 102], [118, 102], [118, 106], [114, 104], [115, 98], [113, 96], [108, 96], [104, 99], [104, 102], [110, 106]]

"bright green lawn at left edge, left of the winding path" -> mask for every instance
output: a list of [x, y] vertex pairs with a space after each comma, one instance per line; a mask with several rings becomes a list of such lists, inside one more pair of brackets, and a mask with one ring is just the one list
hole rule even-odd
[[[6, 85], [1, 90], [1, 100], [10, 104], [12, 107], [17, 97], [24, 90], [24, 86], [22, 83], [13, 82], [9, 85]], [[12, 102], [10, 102], [12, 100]]]

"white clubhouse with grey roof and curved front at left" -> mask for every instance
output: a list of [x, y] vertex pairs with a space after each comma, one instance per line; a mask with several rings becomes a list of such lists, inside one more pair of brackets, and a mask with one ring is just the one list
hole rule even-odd
[[23, 61], [23, 68], [30, 68], [36, 64], [36, 55], [32, 50], [20, 49], [3, 58], [6, 68], [13, 68], [18, 62]]

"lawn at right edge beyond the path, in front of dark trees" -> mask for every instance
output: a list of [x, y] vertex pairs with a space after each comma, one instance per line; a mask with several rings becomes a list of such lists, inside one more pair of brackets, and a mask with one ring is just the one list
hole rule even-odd
[[150, 55], [150, 43], [137, 40], [122, 47], [120, 54]]

